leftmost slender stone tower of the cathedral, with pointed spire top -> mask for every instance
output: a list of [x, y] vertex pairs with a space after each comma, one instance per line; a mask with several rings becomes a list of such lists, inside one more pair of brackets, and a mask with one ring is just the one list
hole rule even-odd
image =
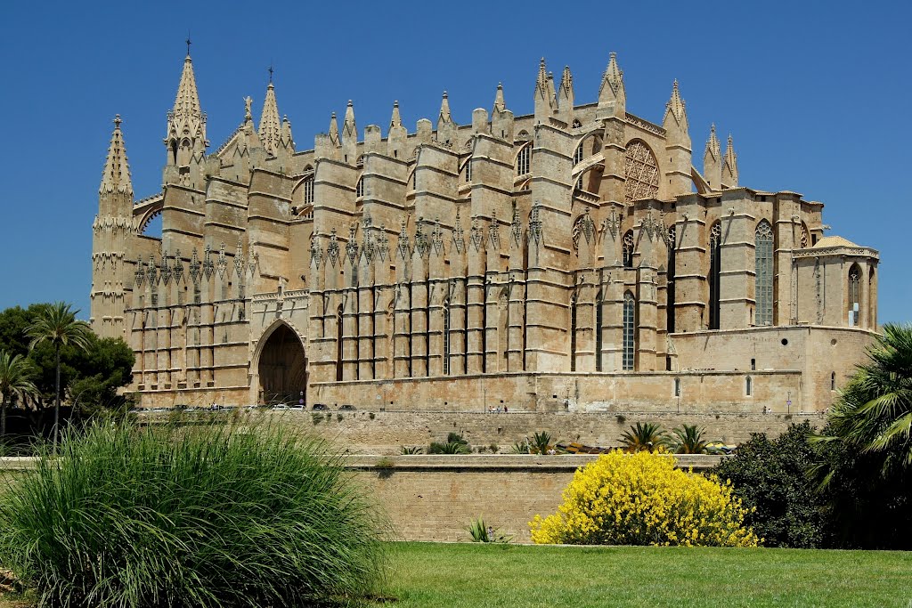
[[126, 255], [132, 233], [133, 185], [118, 114], [98, 188], [98, 215], [92, 223], [91, 325], [101, 337], [124, 335]]

